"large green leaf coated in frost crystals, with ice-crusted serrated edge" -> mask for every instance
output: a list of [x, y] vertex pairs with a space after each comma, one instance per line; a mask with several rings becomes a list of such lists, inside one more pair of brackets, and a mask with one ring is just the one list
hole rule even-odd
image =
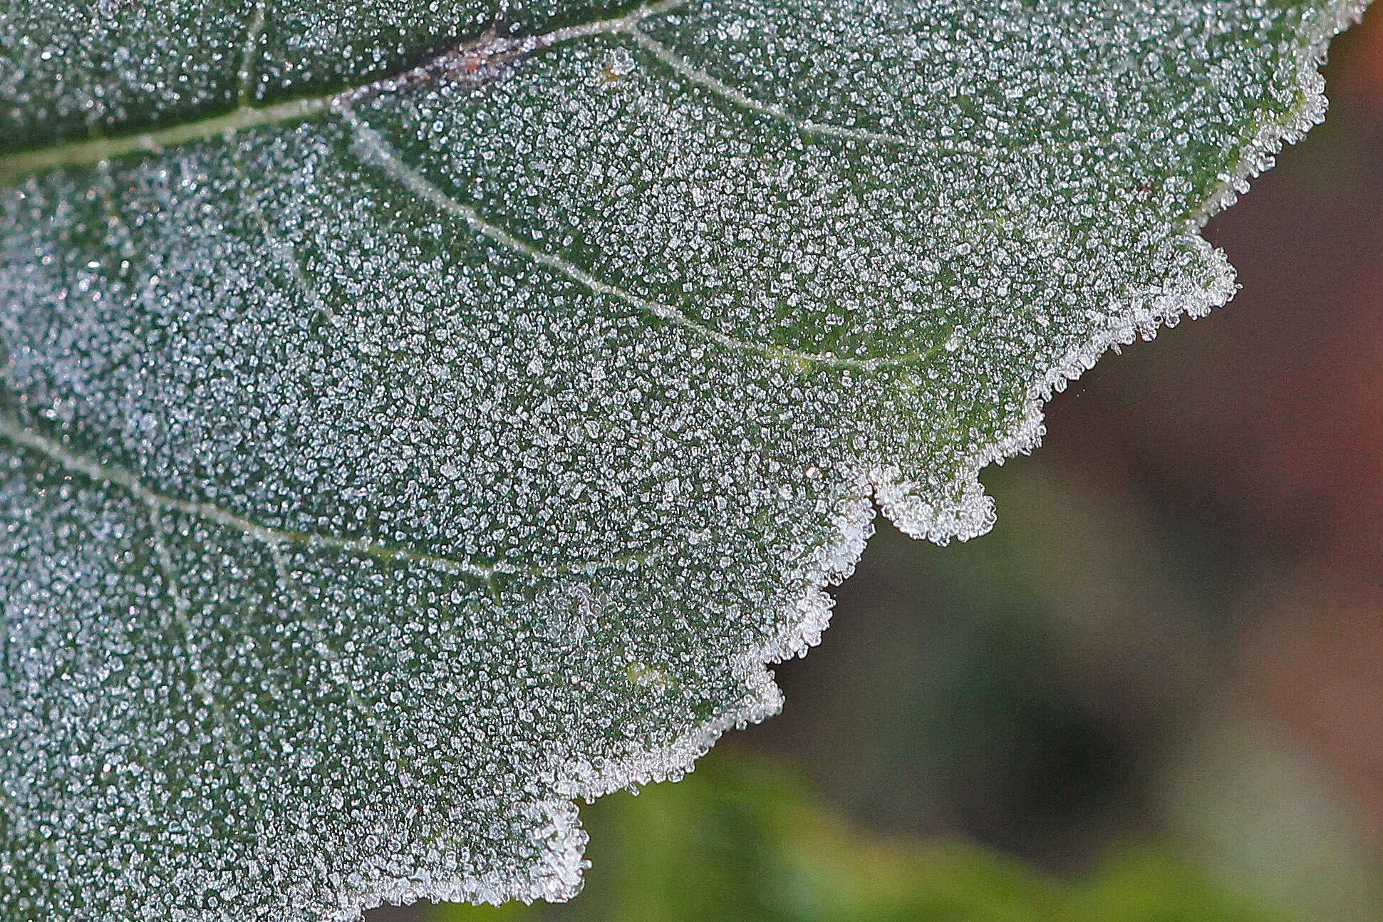
[[1355, 0], [0, 0], [0, 918], [563, 899]]

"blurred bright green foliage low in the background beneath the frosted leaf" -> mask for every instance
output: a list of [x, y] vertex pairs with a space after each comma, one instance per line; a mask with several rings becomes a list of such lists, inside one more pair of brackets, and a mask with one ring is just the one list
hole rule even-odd
[[566, 905], [437, 907], [509, 919], [1264, 922], [1166, 849], [1126, 847], [1062, 879], [961, 842], [882, 838], [826, 810], [790, 766], [714, 751], [679, 784], [588, 807], [586, 889]]

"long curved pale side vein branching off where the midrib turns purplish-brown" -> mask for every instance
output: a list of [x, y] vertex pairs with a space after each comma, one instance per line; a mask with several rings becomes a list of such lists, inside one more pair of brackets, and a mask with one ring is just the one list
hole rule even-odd
[[698, 323], [675, 307], [662, 304], [661, 301], [651, 301], [646, 297], [639, 297], [638, 294], [626, 292], [617, 285], [603, 282], [575, 263], [553, 253], [539, 250], [531, 243], [516, 238], [502, 227], [491, 224], [484, 220], [476, 209], [451, 198], [418, 170], [404, 163], [394, 148], [390, 147], [390, 144], [384, 141], [378, 131], [365, 124], [365, 122], [362, 122], [347, 104], [337, 102], [333, 108], [354, 134], [355, 144], [353, 147], [360, 151], [362, 160], [380, 167], [419, 199], [436, 206], [441, 211], [461, 218], [470, 227], [472, 231], [490, 238], [505, 249], [519, 253], [539, 265], [546, 265], [548, 268], [556, 270], [573, 281], [579, 282], [595, 294], [618, 299], [639, 308], [640, 311], [657, 317], [658, 319], [668, 321], [669, 323], [692, 330], [693, 333], [723, 346], [730, 351], [758, 352], [788, 364], [824, 365], [828, 368], [855, 368], [864, 370], [899, 365], [910, 361], [921, 361], [929, 355], [928, 352], [911, 352], [907, 355], [891, 355], [884, 358], [842, 358], [827, 352], [802, 352], [768, 343], [752, 343], [722, 333], [721, 330], [712, 329], [705, 323]]

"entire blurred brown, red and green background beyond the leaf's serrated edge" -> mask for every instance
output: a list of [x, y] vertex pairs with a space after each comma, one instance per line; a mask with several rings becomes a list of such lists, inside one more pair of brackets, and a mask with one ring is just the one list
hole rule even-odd
[[880, 520], [781, 716], [582, 809], [509, 919], [1383, 919], [1383, 8], [1329, 117], [1206, 229], [1243, 289], [1106, 357], [985, 473]]

